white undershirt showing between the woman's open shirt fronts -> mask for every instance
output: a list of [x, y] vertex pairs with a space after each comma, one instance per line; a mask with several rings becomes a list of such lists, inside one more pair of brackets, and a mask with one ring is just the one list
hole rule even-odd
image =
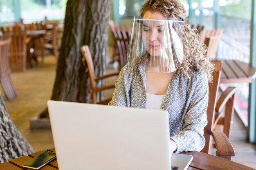
[[150, 93], [146, 93], [147, 96], [147, 106], [146, 108], [157, 109], [160, 110], [161, 104], [164, 99], [164, 95], [153, 95]]

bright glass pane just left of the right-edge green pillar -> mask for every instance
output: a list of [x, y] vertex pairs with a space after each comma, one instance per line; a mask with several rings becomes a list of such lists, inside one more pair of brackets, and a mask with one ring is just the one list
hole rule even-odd
[[[252, 0], [219, 0], [221, 27], [224, 30], [218, 49], [220, 59], [249, 62], [251, 4]], [[247, 126], [249, 85], [240, 83], [233, 86], [238, 86], [234, 108]]]

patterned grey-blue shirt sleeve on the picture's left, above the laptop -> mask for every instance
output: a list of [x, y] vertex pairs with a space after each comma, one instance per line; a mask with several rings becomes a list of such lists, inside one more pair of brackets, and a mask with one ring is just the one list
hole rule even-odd
[[124, 66], [115, 83], [115, 91], [112, 95], [111, 101], [108, 103], [110, 106], [122, 106], [122, 107], [130, 107], [130, 87], [128, 83], [128, 75], [127, 70], [128, 66]]

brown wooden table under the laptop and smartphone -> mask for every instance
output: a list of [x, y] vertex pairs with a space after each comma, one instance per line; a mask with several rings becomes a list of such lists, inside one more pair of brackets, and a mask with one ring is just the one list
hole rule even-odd
[[[55, 152], [55, 149], [49, 149], [49, 151]], [[30, 154], [29, 156], [19, 157], [17, 159], [13, 159], [9, 162], [0, 163], [1, 170], [22, 170], [22, 163], [28, 161], [32, 157], [43, 153], [44, 151], [36, 152]], [[223, 159], [221, 157], [216, 157], [213, 155], [209, 155], [203, 152], [182, 152], [182, 154], [193, 155], [193, 160], [188, 168], [188, 170], [254, 170], [253, 168], [249, 168], [248, 166], [244, 166], [242, 164], [229, 161], [227, 159]], [[40, 170], [57, 170], [58, 163], [55, 159], [51, 163], [47, 164]], [[24, 169], [23, 169], [24, 170]]]

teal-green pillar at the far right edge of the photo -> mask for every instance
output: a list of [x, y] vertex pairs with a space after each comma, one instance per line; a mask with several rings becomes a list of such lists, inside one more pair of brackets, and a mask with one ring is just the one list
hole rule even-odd
[[[256, 67], [256, 2], [252, 0], [252, 19], [251, 19], [251, 45], [250, 63]], [[248, 109], [248, 128], [247, 139], [250, 143], [256, 143], [256, 80], [249, 85], [249, 109]]]

